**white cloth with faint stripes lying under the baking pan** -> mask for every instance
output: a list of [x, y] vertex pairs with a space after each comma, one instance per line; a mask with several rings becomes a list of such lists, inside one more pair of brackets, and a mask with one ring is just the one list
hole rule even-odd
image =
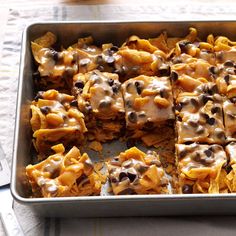
[[[27, 24], [48, 20], [220, 20], [236, 19], [236, 5], [51, 6], [11, 9], [0, 58], [0, 141], [11, 162], [21, 34]], [[0, 35], [3, 35], [2, 33]], [[1, 47], [0, 47], [1, 48]], [[1, 55], [1, 54], [0, 54]], [[236, 203], [235, 203], [236, 204]], [[236, 217], [128, 217], [54, 219], [37, 217], [15, 203], [26, 235], [236, 235]], [[0, 235], [3, 234], [0, 224]]]

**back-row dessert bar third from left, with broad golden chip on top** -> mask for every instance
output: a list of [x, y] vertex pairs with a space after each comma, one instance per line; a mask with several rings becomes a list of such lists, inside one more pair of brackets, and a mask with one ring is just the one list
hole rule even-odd
[[131, 36], [114, 54], [114, 67], [120, 80], [125, 81], [139, 75], [169, 76], [167, 55], [157, 46], [160, 44], [153, 45], [149, 40]]

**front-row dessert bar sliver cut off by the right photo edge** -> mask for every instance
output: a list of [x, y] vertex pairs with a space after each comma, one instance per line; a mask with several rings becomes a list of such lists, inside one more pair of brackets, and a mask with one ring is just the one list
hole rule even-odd
[[236, 192], [236, 143], [229, 143], [226, 148], [226, 153], [229, 157], [229, 168], [230, 171], [226, 176], [226, 184], [231, 193]]

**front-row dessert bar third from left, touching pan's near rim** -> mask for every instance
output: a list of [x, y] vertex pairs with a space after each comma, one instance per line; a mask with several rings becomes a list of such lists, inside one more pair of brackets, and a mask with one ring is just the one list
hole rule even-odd
[[180, 193], [227, 191], [227, 157], [220, 145], [176, 144], [176, 152]]

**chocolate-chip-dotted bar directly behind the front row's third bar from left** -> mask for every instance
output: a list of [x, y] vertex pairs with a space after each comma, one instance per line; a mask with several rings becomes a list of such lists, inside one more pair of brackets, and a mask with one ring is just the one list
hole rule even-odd
[[215, 84], [207, 83], [198, 88], [198, 93], [182, 93], [177, 98], [178, 143], [225, 143], [223, 98], [214, 94], [215, 88]]

